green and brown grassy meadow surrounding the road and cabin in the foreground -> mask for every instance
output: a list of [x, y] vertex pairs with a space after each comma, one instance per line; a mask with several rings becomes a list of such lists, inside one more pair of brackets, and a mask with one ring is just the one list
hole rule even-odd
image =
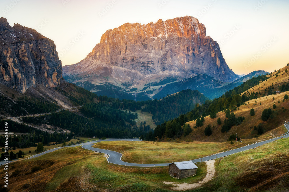
[[[101, 142], [98, 145], [135, 149], [146, 154], [167, 152], [173, 161], [192, 159], [201, 153], [212, 153], [226, 147], [226, 143], [161, 143], [161, 142]], [[112, 150], [112, 149], [111, 149]], [[175, 154], [176, 157], [174, 157]], [[278, 140], [253, 150], [244, 151], [216, 161], [214, 179], [198, 189], [189, 191], [288, 191], [289, 139]], [[206, 164], [198, 163], [197, 175], [175, 179], [168, 175], [168, 167], [135, 168], [118, 166], [106, 161], [101, 153], [81, 147], [63, 148], [52, 153], [10, 164], [11, 191], [171, 191], [174, 183], [198, 183], [206, 175]], [[175, 158], [175, 159], [174, 159]], [[187, 160], [187, 159], [184, 159]], [[148, 157], [147, 161], [161, 163], [162, 157]], [[32, 168], [38, 167], [35, 172]], [[4, 174], [4, 170], [0, 170]], [[3, 178], [0, 179], [3, 182]]]

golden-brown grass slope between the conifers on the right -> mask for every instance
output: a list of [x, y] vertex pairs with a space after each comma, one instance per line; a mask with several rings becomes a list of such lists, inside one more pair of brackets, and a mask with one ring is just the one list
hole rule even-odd
[[[289, 73], [285, 72], [285, 70], [289, 69], [289, 66], [284, 67], [281, 69], [281, 73], [278, 74], [278, 77], [272, 76], [270, 79], [267, 79], [266, 81], [263, 81], [259, 85], [256, 85], [255, 87], [251, 88], [248, 90], [248, 92], [253, 92], [261, 90], [261, 94], [258, 96], [262, 96], [262, 94], [265, 92], [264, 90], [267, 87], [270, 87], [270, 85], [274, 86], [274, 91], [279, 90], [278, 86], [281, 86], [282, 83], [288, 83], [289, 82]], [[273, 73], [276, 74], [277, 72]], [[270, 77], [270, 75], [268, 75]], [[259, 89], [259, 90], [258, 90]], [[247, 91], [246, 91], [247, 92]], [[242, 93], [244, 94], [244, 93]], [[239, 109], [236, 111], [231, 111], [235, 113], [236, 118], [238, 117], [245, 117], [244, 122], [239, 125], [239, 126], [234, 126], [231, 128], [231, 130], [228, 133], [222, 133], [221, 128], [222, 125], [217, 124], [217, 119], [218, 117], [221, 118], [222, 123], [225, 120], [225, 113], [224, 112], [219, 112], [217, 113], [217, 118], [211, 119], [210, 116], [205, 117], [205, 121], [203, 122], [203, 126], [199, 128], [194, 128], [196, 125], [196, 121], [190, 121], [188, 124], [190, 124], [190, 127], [192, 128], [192, 133], [190, 133], [189, 136], [185, 137], [182, 136], [180, 140], [198, 140], [198, 141], [214, 141], [214, 142], [224, 142], [229, 138], [231, 134], [238, 134], [239, 137], [241, 138], [253, 138], [257, 132], [253, 130], [254, 126], [258, 126], [259, 123], [262, 123], [265, 128], [265, 134], [270, 135], [271, 137], [274, 136], [280, 136], [284, 132], [282, 131], [281, 126], [286, 122], [289, 121], [289, 101], [285, 100], [283, 102], [285, 94], [289, 94], [289, 92], [282, 92], [281, 94], [273, 94], [270, 96], [265, 96], [265, 97], [260, 97], [257, 99], [250, 100], [247, 102], [247, 105], [241, 105]], [[280, 100], [280, 103], [278, 101]], [[261, 105], [260, 105], [261, 103]], [[277, 106], [277, 109], [273, 109], [273, 105]], [[255, 110], [255, 115], [252, 117], [250, 115], [250, 110], [251, 109]], [[274, 113], [273, 119], [269, 119], [267, 122], [263, 122], [261, 119], [261, 115], [264, 109], [269, 109], [271, 108]], [[283, 109], [284, 108], [284, 109]], [[205, 136], [204, 130], [205, 127], [208, 126], [212, 127], [212, 135], [211, 136]], [[278, 130], [275, 130], [276, 128], [279, 128]], [[275, 131], [273, 131], [275, 130]], [[261, 136], [262, 138], [262, 136]]]

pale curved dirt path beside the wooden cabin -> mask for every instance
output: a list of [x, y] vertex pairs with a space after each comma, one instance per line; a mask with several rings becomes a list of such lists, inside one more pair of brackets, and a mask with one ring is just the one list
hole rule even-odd
[[172, 190], [176, 191], [186, 191], [190, 189], [195, 189], [197, 187], [201, 187], [203, 184], [208, 183], [210, 180], [213, 179], [215, 175], [215, 160], [211, 161], [205, 161], [207, 164], [207, 174], [203, 180], [201, 180], [199, 183], [193, 183], [193, 184], [188, 184], [188, 183], [181, 183], [181, 184], [173, 184], [173, 182], [163, 182], [164, 184], [173, 184], [174, 186], [177, 187], [172, 187]]

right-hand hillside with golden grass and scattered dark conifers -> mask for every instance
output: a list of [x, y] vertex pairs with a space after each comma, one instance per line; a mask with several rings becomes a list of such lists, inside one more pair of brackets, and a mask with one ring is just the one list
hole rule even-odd
[[[275, 129], [281, 127], [285, 121], [288, 121], [287, 109], [289, 103], [288, 100], [284, 100], [289, 90], [287, 86], [288, 72], [285, 72], [286, 69], [288, 71], [288, 67], [286, 66], [280, 71], [267, 76], [253, 77], [233, 90], [227, 91], [220, 98], [198, 105], [191, 112], [186, 113], [184, 116], [181, 115], [174, 121], [163, 123], [155, 129], [155, 136], [163, 140], [171, 140], [173, 137], [173, 140], [223, 142], [230, 138], [232, 140], [232, 136], [236, 135], [236, 133], [242, 139], [262, 137], [268, 134], [271, 136], [281, 135], [283, 133], [282, 129]], [[274, 76], [277, 73], [278, 76]], [[281, 90], [281, 94], [275, 94], [277, 90]], [[250, 114], [251, 109], [254, 109], [255, 112], [253, 116]], [[264, 109], [268, 109], [270, 113], [266, 121], [261, 119]], [[227, 115], [226, 112], [228, 113]], [[230, 114], [233, 113], [234, 115], [230, 118]], [[213, 115], [213, 119], [210, 117], [211, 115]], [[204, 117], [203, 120], [200, 119], [201, 116]], [[217, 122], [219, 117], [221, 120], [220, 124]], [[184, 120], [181, 119], [188, 119], [189, 121], [184, 123]], [[178, 123], [181, 125], [189, 124], [190, 128], [184, 126], [182, 131], [185, 134], [174, 136], [176, 129], [179, 129], [176, 127]], [[211, 127], [212, 134], [205, 136], [204, 130], [208, 125]], [[191, 133], [190, 130], [192, 130]]]

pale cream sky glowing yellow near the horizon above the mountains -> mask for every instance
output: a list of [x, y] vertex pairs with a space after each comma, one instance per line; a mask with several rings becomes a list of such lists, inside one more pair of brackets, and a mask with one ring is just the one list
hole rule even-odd
[[52, 39], [62, 66], [86, 57], [101, 35], [124, 23], [199, 19], [236, 74], [289, 62], [288, 0], [1, 0], [0, 17]]

